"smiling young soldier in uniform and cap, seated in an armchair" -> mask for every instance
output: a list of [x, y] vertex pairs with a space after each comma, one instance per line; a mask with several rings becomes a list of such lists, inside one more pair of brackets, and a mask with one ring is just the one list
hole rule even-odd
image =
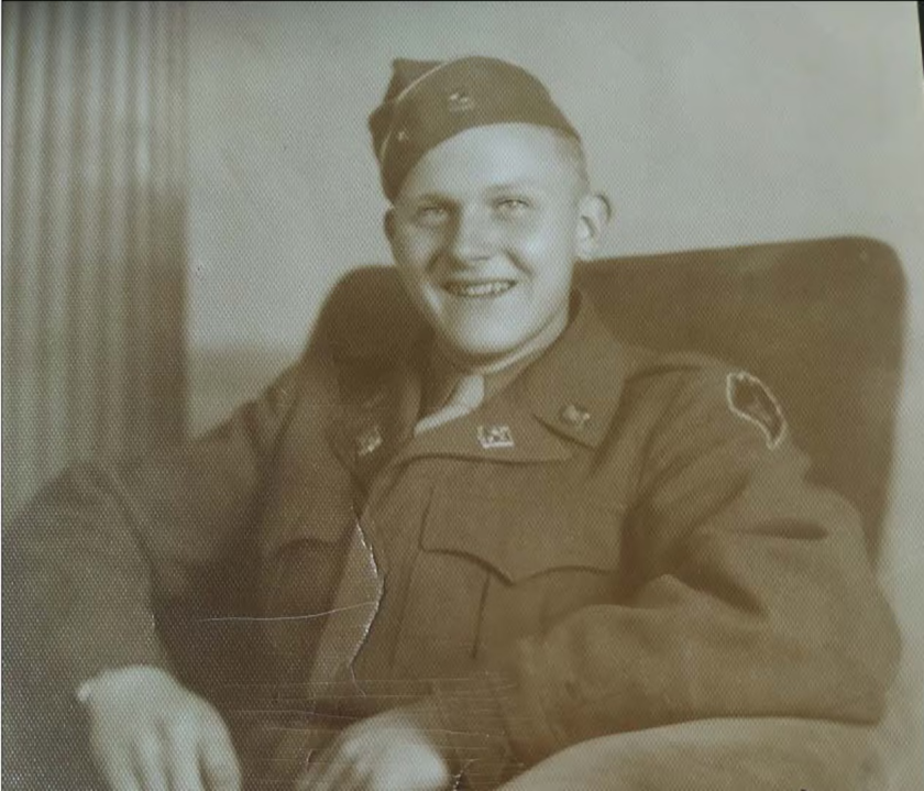
[[270, 711], [238, 744], [284, 788], [495, 788], [668, 723], [876, 722], [898, 641], [856, 513], [760, 382], [626, 347], [572, 292], [608, 207], [544, 87], [398, 61], [371, 129], [429, 331], [307, 355], [188, 447], [35, 499], [4, 556], [35, 727], [77, 692], [110, 788], [238, 788], [152, 607], [256, 557]]

